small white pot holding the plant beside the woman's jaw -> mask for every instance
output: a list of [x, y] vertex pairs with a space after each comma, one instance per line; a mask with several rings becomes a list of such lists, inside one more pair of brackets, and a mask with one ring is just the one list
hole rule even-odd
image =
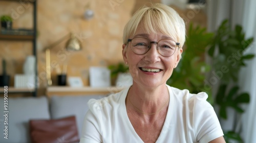
[[133, 77], [130, 73], [119, 73], [116, 79], [117, 87], [129, 87], [133, 84]]

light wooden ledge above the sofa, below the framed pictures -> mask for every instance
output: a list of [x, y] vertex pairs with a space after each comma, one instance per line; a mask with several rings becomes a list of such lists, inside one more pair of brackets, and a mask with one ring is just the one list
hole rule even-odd
[[99, 95], [111, 94], [121, 91], [122, 87], [69, 87], [69, 86], [50, 86], [46, 88], [46, 95], [51, 96], [78, 96], [78, 95]]

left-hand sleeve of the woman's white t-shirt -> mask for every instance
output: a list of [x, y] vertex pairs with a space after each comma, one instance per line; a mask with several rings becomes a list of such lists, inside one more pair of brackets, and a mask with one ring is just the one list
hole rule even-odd
[[98, 143], [101, 140], [102, 136], [99, 131], [97, 117], [89, 109], [84, 117], [80, 143]]

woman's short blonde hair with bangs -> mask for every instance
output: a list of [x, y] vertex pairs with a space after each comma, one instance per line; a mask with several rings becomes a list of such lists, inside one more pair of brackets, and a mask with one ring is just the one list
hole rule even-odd
[[171, 7], [163, 4], [152, 4], [143, 6], [126, 23], [123, 30], [123, 43], [134, 36], [139, 23], [143, 23], [145, 32], [161, 32], [174, 38], [180, 43], [180, 48], [185, 42], [185, 23], [179, 14]]

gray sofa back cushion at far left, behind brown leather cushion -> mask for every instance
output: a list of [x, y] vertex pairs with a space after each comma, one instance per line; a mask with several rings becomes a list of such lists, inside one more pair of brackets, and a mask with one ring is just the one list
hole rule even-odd
[[48, 100], [46, 97], [8, 98], [8, 139], [4, 138], [4, 98], [0, 98], [0, 142], [28, 143], [29, 120], [50, 119]]

